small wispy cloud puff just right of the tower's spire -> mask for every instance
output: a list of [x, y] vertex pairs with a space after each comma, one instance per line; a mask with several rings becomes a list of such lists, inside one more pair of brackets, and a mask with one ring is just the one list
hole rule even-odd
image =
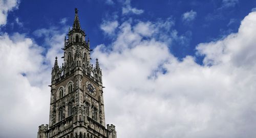
[[105, 34], [113, 36], [114, 32], [118, 26], [118, 21], [103, 21], [100, 25], [100, 29], [104, 31]]

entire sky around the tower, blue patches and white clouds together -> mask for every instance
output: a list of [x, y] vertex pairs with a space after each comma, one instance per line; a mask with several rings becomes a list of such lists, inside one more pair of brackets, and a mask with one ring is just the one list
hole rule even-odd
[[0, 137], [49, 122], [78, 8], [119, 138], [256, 136], [256, 1], [0, 0]]

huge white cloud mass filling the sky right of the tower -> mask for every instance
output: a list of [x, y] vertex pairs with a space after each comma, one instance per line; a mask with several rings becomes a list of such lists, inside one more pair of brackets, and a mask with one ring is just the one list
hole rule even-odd
[[196, 57], [177, 60], [154, 35], [166, 35], [155, 24], [123, 22], [116, 41], [92, 53], [103, 70], [106, 122], [118, 137], [256, 135], [256, 13], [238, 33], [199, 44], [204, 65]]

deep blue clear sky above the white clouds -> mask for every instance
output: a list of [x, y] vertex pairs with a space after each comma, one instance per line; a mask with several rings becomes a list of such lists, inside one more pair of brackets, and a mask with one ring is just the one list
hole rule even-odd
[[[91, 46], [111, 43], [105, 37], [100, 24], [103, 20], [114, 18], [117, 21], [132, 18], [141, 21], [157, 21], [172, 18], [174, 29], [178, 35], [187, 40], [184, 43], [175, 41], [170, 45], [170, 50], [176, 57], [184, 58], [187, 54], [195, 55], [195, 47], [202, 42], [220, 39], [230, 33], [237, 32], [241, 20], [256, 5], [255, 1], [131, 1], [131, 5], [143, 10], [141, 14], [122, 15], [123, 1], [20, 1], [18, 10], [13, 10], [8, 15], [8, 23], [2, 27], [2, 32], [25, 33], [39, 44], [43, 40], [33, 35], [35, 30], [49, 28], [50, 26], [62, 27], [61, 19], [65, 18], [65, 25], [73, 23], [74, 8], [78, 8], [81, 26], [86, 30], [91, 39]], [[193, 10], [196, 17], [189, 22], [184, 22], [182, 15]], [[23, 23], [19, 26], [16, 18]], [[13, 24], [14, 23], [14, 24]], [[42, 45], [44, 46], [44, 45]]]

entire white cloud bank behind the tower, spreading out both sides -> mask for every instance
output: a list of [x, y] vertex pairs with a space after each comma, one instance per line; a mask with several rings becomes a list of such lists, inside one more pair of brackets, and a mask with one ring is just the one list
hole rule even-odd
[[[256, 135], [256, 13], [244, 18], [238, 33], [199, 44], [204, 65], [169, 52], [180, 38], [173, 24], [124, 21], [111, 45], [94, 49], [106, 87], [106, 122], [123, 138]], [[67, 28], [58, 30], [34, 32], [48, 50], [22, 34], [0, 36], [0, 137], [35, 137], [37, 126], [48, 123], [52, 65], [45, 62], [63, 55]]]

